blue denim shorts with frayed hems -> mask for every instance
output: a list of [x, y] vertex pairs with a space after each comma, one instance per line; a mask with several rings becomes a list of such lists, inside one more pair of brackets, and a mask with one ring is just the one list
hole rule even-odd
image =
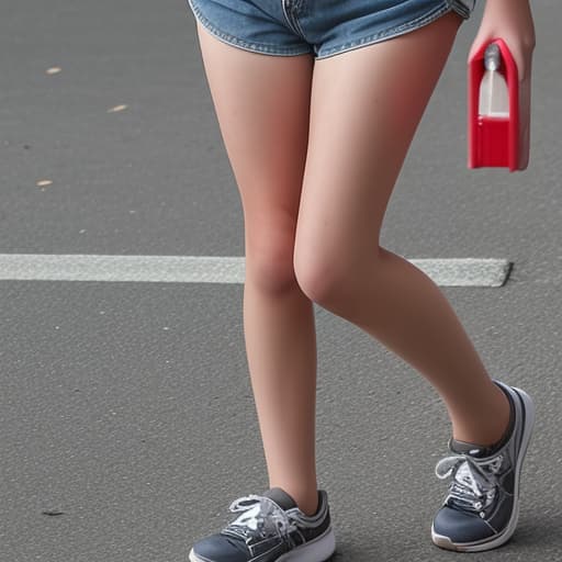
[[396, 37], [476, 0], [188, 0], [194, 16], [229, 45], [315, 59]]

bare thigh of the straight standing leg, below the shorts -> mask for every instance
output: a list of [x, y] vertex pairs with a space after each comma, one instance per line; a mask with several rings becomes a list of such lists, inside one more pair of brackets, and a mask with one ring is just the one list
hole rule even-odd
[[308, 135], [312, 55], [250, 53], [198, 22], [204, 70], [241, 196], [247, 251], [291, 236]]

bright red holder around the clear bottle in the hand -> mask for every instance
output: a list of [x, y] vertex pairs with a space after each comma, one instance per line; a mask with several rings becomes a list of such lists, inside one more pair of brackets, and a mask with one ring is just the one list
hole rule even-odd
[[[494, 117], [479, 114], [480, 85], [484, 76], [484, 52], [496, 43], [502, 55], [499, 69], [509, 95], [509, 116]], [[498, 167], [509, 171], [524, 169], [519, 165], [519, 80], [517, 65], [501, 38], [494, 38], [474, 54], [469, 61], [469, 168]]]

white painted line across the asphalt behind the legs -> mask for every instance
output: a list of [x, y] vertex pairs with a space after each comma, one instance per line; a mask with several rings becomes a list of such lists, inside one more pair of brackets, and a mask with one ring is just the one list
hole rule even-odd
[[[492, 258], [408, 261], [442, 286], [502, 286], [512, 267]], [[0, 280], [244, 283], [244, 257], [0, 254]]]

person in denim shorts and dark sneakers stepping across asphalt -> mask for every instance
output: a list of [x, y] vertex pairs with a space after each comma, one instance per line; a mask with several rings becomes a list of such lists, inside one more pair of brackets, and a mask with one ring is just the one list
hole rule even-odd
[[[438, 286], [382, 248], [386, 204], [457, 31], [475, 0], [189, 0], [241, 196], [244, 331], [269, 488], [199, 540], [191, 562], [321, 562], [335, 551], [315, 471], [313, 302], [434, 385], [452, 476], [431, 524], [446, 549], [506, 542], [533, 425], [522, 390], [490, 378]], [[502, 37], [530, 83], [528, 0], [487, 0], [469, 58]]]

